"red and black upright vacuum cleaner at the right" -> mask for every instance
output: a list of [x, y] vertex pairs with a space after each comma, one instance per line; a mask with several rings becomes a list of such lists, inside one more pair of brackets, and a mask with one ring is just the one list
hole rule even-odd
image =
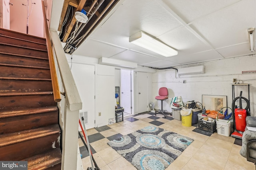
[[[239, 108], [235, 105], [236, 100], [239, 99]], [[246, 101], [246, 107], [242, 108], [242, 99]], [[232, 137], [242, 139], [245, 127], [246, 127], [246, 116], [250, 116], [250, 102], [248, 99], [242, 97], [242, 91], [240, 92], [240, 96], [234, 98], [232, 102], [232, 118], [234, 124], [234, 132], [231, 134]]]

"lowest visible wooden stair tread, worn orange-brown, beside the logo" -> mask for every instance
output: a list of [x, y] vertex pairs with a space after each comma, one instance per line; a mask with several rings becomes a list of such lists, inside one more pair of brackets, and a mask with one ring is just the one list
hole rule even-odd
[[28, 170], [45, 170], [61, 163], [61, 152], [59, 148], [56, 148], [50, 152], [25, 158], [22, 161], [24, 160], [28, 161]]

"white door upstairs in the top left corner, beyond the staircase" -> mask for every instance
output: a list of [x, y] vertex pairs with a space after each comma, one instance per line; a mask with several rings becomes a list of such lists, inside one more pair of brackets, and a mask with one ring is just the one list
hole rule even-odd
[[1, 27], [4, 29], [10, 29], [10, 0], [1, 0], [2, 16]]

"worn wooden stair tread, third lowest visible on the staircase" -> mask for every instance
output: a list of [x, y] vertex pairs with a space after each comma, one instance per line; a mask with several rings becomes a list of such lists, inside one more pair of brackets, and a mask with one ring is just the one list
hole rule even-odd
[[44, 113], [44, 112], [57, 111], [57, 110], [58, 110], [57, 106], [39, 107], [39, 108], [31, 108], [31, 109], [24, 109], [24, 110], [19, 109], [19, 110], [0, 112], [0, 118], [30, 115], [30, 114]]

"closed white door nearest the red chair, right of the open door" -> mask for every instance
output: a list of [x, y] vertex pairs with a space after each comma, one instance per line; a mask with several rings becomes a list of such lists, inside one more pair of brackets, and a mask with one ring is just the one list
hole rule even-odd
[[148, 74], [137, 72], [138, 78], [138, 113], [148, 111]]

